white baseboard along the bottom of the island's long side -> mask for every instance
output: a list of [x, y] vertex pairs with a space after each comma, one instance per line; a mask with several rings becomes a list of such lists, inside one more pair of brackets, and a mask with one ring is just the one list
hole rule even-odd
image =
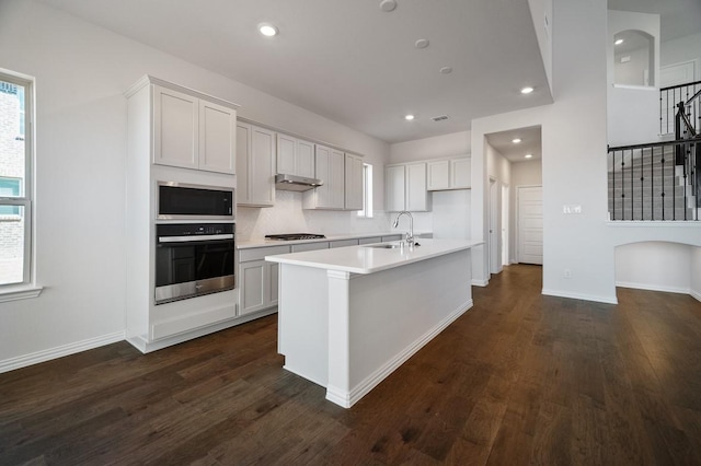
[[329, 385], [326, 386], [326, 399], [335, 403], [344, 408], [352, 407], [356, 401], [367, 395], [372, 388], [387, 378], [392, 372], [394, 372], [400, 365], [402, 365], [409, 358], [414, 356], [416, 351], [422, 349], [426, 343], [433, 340], [438, 334], [440, 334], [446, 327], [448, 327], [455, 319], [464, 314], [473, 305], [472, 299], [462, 304], [456, 311], [450, 313], [446, 318], [438, 323], [434, 328], [430, 328], [427, 333], [416, 339], [412, 345], [406, 347], [403, 351], [388, 361], [384, 365], [378, 368], [375, 372], [368, 375], [363, 382], [357, 384], [346, 392], [338, 387]]

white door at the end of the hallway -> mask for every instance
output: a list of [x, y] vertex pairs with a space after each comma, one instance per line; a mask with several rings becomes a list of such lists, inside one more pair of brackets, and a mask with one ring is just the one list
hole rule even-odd
[[543, 264], [543, 188], [518, 188], [518, 261]]

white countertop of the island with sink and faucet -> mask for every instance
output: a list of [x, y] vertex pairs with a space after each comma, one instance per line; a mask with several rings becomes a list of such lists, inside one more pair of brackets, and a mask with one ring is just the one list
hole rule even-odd
[[[375, 273], [381, 270], [417, 263], [420, 260], [426, 260], [432, 257], [469, 249], [473, 246], [483, 244], [481, 241], [472, 240], [418, 238], [417, 242], [421, 246], [414, 246], [411, 248], [406, 246], [393, 249], [368, 247], [369, 245], [347, 246], [333, 249], [266, 256], [265, 260], [326, 270], [347, 271], [352, 273]], [[381, 244], [387, 245], [399, 243], [401, 242]]]

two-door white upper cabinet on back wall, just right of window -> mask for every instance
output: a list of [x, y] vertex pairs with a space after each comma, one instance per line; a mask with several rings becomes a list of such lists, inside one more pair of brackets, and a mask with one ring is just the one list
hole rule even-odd
[[428, 210], [425, 162], [384, 167], [384, 208], [388, 212]]

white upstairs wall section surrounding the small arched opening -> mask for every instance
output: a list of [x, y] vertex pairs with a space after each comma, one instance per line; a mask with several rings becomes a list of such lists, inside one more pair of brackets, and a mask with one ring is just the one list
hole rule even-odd
[[[614, 86], [617, 65], [613, 40], [616, 34], [629, 30], [642, 31], [654, 38], [655, 59], [652, 67], [654, 78], [650, 88]], [[609, 144], [617, 147], [657, 141], [659, 92], [656, 82], [659, 75], [659, 15], [609, 11], [607, 63]], [[628, 65], [631, 63], [625, 63]]]

